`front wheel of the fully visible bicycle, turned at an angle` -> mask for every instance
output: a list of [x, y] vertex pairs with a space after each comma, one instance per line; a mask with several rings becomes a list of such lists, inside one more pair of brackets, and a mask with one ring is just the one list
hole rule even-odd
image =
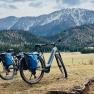
[[61, 73], [63, 74], [63, 76], [65, 78], [67, 78], [68, 77], [67, 70], [66, 70], [65, 65], [63, 63], [63, 60], [61, 58], [61, 55], [60, 54], [56, 54], [55, 57], [56, 57], [56, 61], [57, 61], [57, 64], [58, 64], [58, 67], [59, 67]]

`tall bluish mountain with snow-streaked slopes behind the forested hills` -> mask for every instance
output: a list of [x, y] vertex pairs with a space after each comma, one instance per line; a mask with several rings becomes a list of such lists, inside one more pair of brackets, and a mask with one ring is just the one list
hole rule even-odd
[[62, 9], [38, 17], [6, 17], [0, 19], [0, 30], [25, 30], [35, 35], [52, 36], [68, 28], [94, 23], [94, 11]]

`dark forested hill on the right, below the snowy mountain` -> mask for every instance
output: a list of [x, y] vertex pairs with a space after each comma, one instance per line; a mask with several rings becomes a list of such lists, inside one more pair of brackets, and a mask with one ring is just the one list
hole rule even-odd
[[94, 47], [94, 24], [77, 26], [60, 32], [48, 39], [55, 41], [61, 39], [60, 47], [65, 49], [80, 49], [84, 47]]

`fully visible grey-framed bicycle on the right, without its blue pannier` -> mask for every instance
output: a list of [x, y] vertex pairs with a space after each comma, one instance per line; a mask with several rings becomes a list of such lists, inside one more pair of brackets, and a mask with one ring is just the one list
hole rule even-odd
[[[61, 40], [58, 40], [57, 42], [60, 42], [60, 41]], [[31, 71], [29, 67], [25, 70], [24, 67], [23, 67], [24, 63], [21, 63], [20, 74], [21, 74], [22, 79], [26, 83], [31, 84], [31, 85], [36, 84], [42, 79], [44, 73], [49, 73], [51, 65], [52, 65], [52, 61], [54, 59], [54, 56], [56, 58], [56, 61], [57, 61], [57, 64], [58, 64], [60, 71], [62, 72], [64, 77], [67, 78], [67, 76], [68, 76], [67, 70], [66, 70], [65, 65], [63, 63], [61, 54], [56, 47], [57, 42], [51, 43], [51, 44], [37, 44], [37, 45], [35, 45], [35, 49], [38, 51], [38, 53], [36, 53], [35, 55], [37, 55], [38, 60], [37, 60], [37, 67], [36, 67], [34, 72]], [[45, 47], [45, 46], [53, 46], [50, 57], [49, 57], [47, 63], [45, 62], [45, 58], [44, 58], [44, 55], [43, 55], [43, 52], [42, 52], [42, 49], [41, 49], [42, 47]], [[27, 54], [25, 53], [25, 55], [28, 55], [28, 53]], [[26, 62], [26, 63], [27, 63], [27, 66], [28, 66], [28, 62]]]

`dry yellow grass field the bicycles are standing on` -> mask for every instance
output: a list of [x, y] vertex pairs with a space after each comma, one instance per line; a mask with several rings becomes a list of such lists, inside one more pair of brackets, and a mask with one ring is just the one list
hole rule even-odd
[[[46, 60], [48, 53], [45, 54]], [[28, 85], [19, 74], [11, 81], [0, 79], [0, 94], [46, 94], [49, 90], [70, 90], [74, 86], [83, 86], [94, 76], [94, 54], [62, 53], [68, 70], [68, 79], [64, 79], [54, 60], [51, 72], [35, 85]]]

